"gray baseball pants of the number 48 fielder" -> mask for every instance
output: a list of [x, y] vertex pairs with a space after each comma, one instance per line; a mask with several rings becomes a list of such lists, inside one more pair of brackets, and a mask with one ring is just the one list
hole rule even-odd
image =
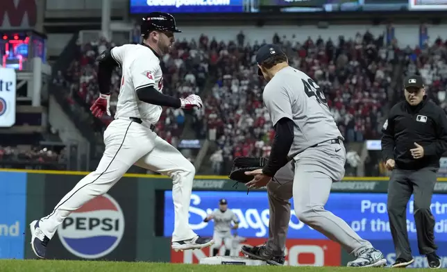
[[325, 210], [332, 182], [344, 176], [346, 151], [343, 143], [321, 143], [295, 156], [267, 185], [269, 196], [269, 239], [267, 253], [284, 255], [290, 220], [290, 198], [298, 219], [358, 256], [372, 248], [341, 218]]

